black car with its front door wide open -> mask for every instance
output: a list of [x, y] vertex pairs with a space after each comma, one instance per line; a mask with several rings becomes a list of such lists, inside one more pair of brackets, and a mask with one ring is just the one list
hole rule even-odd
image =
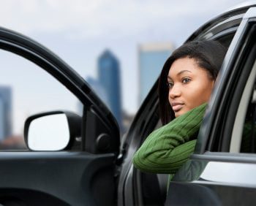
[[37, 64], [83, 104], [82, 115], [53, 110], [26, 120], [30, 150], [0, 153], [0, 203], [255, 205], [256, 4], [219, 15], [187, 41], [195, 39], [215, 39], [228, 50], [195, 153], [167, 192], [167, 175], [132, 165], [143, 140], [161, 126], [157, 83], [120, 143], [115, 118], [73, 69], [37, 42], [0, 28], [2, 50]]

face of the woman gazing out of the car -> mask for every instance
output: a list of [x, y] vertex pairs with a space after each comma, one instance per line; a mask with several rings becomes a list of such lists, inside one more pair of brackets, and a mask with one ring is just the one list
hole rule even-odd
[[176, 117], [208, 102], [214, 87], [214, 80], [193, 58], [178, 58], [174, 61], [167, 83], [168, 99]]

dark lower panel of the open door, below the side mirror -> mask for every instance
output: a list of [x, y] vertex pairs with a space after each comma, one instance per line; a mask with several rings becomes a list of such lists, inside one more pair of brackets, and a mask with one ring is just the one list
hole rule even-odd
[[115, 205], [114, 159], [86, 152], [1, 152], [0, 203]]

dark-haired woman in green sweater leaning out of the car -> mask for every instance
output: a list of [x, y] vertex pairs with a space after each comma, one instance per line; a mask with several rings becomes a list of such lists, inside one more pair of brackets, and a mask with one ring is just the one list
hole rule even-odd
[[189, 159], [225, 51], [219, 42], [192, 41], [167, 59], [158, 87], [164, 126], [153, 131], [135, 153], [135, 167], [174, 174]]

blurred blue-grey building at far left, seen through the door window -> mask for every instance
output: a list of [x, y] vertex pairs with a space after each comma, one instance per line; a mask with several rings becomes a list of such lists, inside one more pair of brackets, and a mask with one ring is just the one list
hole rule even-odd
[[12, 88], [0, 86], [0, 140], [12, 135]]

